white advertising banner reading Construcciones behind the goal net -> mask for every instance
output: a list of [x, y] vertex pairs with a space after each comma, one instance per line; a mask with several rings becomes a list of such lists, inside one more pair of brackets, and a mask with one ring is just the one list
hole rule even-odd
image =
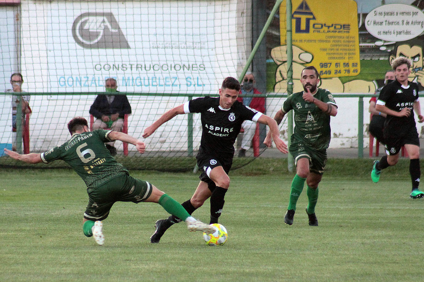
[[[45, 17], [35, 23], [39, 5]], [[113, 77], [124, 92], [210, 94], [240, 68], [235, 0], [28, 1], [25, 8], [31, 48], [23, 49], [22, 69], [43, 76], [34, 79], [38, 91], [100, 92]]]

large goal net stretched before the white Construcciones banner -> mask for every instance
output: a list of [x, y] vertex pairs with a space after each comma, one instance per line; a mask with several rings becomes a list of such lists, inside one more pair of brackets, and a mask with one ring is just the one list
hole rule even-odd
[[[71, 118], [89, 120], [105, 79], [114, 78], [131, 105], [128, 134], [142, 139], [167, 110], [215, 96], [225, 77], [239, 77], [251, 53], [251, 11], [251, 0], [33, 0], [0, 6], [0, 91], [11, 89], [12, 73], [22, 74], [22, 90], [31, 96], [29, 151], [38, 153], [69, 139]], [[0, 144], [8, 147], [14, 138], [11, 93], [0, 93], [0, 100]], [[125, 156], [117, 141], [117, 159], [128, 168], [192, 170], [200, 138], [200, 116], [179, 115], [145, 140], [144, 155], [130, 144]], [[3, 156], [0, 165], [20, 164]]]

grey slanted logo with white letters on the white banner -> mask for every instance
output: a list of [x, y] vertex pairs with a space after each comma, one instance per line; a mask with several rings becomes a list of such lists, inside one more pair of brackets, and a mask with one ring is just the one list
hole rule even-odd
[[84, 13], [72, 26], [75, 42], [86, 49], [130, 49], [112, 13]]

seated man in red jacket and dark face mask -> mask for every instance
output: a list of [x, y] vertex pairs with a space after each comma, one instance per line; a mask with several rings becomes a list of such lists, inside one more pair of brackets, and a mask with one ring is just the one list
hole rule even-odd
[[[246, 94], [262, 94], [254, 88], [256, 83], [255, 77], [251, 72], [247, 72], [242, 81], [242, 88], [240, 94], [237, 98], [237, 101], [243, 103], [243, 105], [248, 106], [254, 110], [265, 113], [265, 98], [264, 97], [245, 97]], [[241, 141], [241, 148], [238, 152], [239, 157], [246, 156], [246, 151], [249, 150], [252, 142], [252, 138], [255, 135], [256, 123], [251, 120], [245, 120], [242, 123], [242, 128], [244, 129], [243, 139]]]

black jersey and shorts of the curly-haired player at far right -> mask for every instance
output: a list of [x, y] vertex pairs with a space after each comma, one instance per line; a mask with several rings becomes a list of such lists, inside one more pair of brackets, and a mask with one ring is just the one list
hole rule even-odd
[[388, 130], [393, 137], [403, 136], [408, 130], [416, 130], [414, 118], [414, 102], [418, 101], [418, 85], [409, 82], [404, 87], [397, 80], [389, 83], [380, 92], [377, 105], [383, 105], [390, 110], [400, 112], [404, 108], [411, 110], [409, 117], [395, 117], [387, 115], [384, 130]]

